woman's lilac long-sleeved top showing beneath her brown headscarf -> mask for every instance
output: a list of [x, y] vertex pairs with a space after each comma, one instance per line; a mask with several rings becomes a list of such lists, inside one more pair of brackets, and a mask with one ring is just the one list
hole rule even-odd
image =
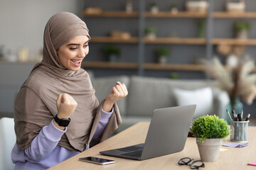
[[[93, 138], [97, 138], [102, 134], [113, 111], [113, 108], [110, 113], [103, 110], [101, 111], [100, 123], [97, 126]], [[58, 145], [61, 136], [66, 132], [67, 128], [65, 128], [65, 130], [56, 128], [55, 125], [53, 125], [52, 120], [49, 125], [42, 128], [39, 134], [31, 142], [31, 146], [27, 149], [21, 150], [17, 145], [14, 145], [11, 152], [11, 158], [14, 164], [16, 164], [15, 169], [48, 169], [55, 164], [59, 164], [60, 162], [79, 154], [80, 152], [70, 151]], [[86, 149], [88, 148], [89, 145]]]

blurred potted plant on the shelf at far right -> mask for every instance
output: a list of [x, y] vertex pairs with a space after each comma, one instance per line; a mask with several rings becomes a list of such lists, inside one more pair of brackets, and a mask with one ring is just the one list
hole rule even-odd
[[237, 21], [235, 22], [236, 38], [247, 39], [248, 30], [251, 28], [251, 23], [248, 21]]

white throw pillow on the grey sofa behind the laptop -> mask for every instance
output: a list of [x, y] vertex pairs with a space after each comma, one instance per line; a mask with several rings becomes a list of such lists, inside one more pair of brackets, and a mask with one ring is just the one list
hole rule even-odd
[[196, 104], [194, 118], [213, 113], [213, 92], [210, 87], [193, 91], [174, 89], [178, 106]]

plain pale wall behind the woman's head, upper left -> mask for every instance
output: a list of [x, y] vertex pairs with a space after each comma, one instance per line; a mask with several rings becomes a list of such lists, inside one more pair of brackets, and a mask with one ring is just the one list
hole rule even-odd
[[43, 48], [43, 30], [50, 16], [69, 11], [80, 16], [82, 0], [0, 0], [0, 45], [18, 55], [26, 46], [30, 55]]

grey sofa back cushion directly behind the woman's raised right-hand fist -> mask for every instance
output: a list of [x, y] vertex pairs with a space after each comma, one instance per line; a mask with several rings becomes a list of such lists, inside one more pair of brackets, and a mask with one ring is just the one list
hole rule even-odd
[[[119, 77], [100, 77], [97, 79], [92, 79], [92, 86], [95, 88], [95, 96], [99, 102], [106, 98], [113, 86], [115, 86], [116, 82], [120, 81], [127, 86], [129, 89], [129, 77], [127, 76], [119, 76]], [[128, 92], [129, 93], [129, 92]], [[117, 105], [121, 115], [125, 115], [127, 111], [127, 97], [120, 99], [117, 101]]]

